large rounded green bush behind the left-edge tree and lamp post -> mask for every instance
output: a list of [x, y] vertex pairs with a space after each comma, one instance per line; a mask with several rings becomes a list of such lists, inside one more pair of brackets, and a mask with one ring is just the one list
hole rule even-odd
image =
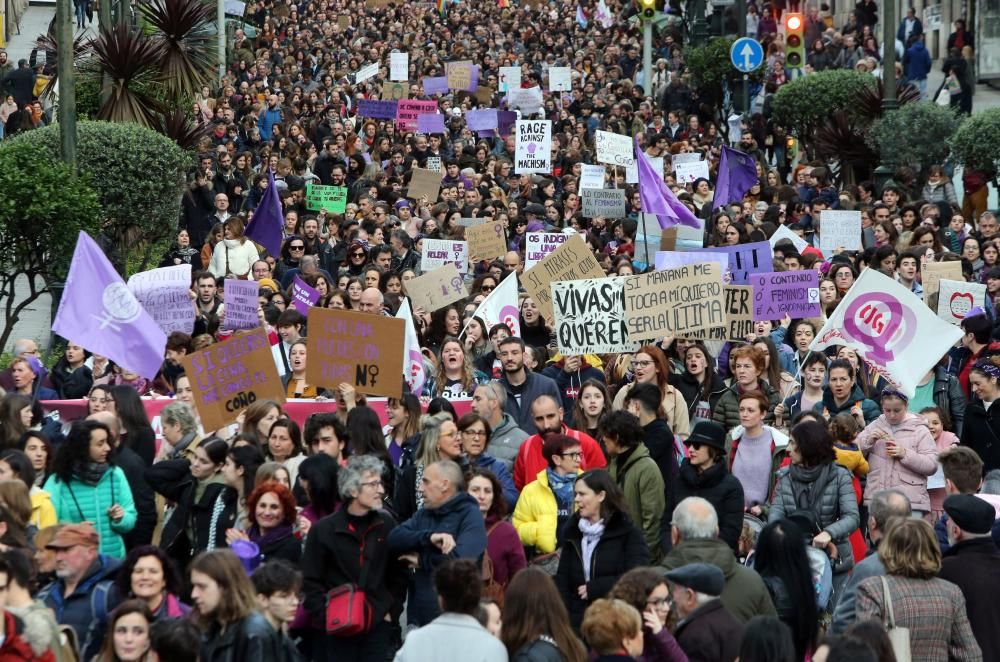
[[[177, 231], [190, 155], [166, 136], [137, 124], [82, 121], [77, 131], [79, 169], [89, 175], [97, 193], [107, 219], [105, 231], [129, 264], [130, 274], [150, 268], [159, 257], [157, 245]], [[37, 145], [59, 158], [55, 125], [9, 142]]]

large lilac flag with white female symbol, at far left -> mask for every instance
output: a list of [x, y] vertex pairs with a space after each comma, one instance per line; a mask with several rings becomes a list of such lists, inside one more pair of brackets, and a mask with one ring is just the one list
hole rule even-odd
[[52, 330], [149, 379], [159, 372], [167, 347], [166, 334], [86, 232], [76, 240]]

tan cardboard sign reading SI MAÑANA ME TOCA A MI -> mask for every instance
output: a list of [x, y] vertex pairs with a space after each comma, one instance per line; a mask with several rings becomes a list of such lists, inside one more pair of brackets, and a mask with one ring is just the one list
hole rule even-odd
[[717, 262], [625, 279], [625, 320], [632, 340], [652, 340], [672, 333], [684, 337], [726, 322], [722, 271]]

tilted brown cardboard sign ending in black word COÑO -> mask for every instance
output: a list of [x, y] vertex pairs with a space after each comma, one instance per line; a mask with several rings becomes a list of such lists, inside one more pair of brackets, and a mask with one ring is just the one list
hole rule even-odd
[[285, 401], [271, 343], [262, 328], [188, 354], [181, 365], [191, 378], [194, 406], [206, 430], [229, 425], [258, 400]]

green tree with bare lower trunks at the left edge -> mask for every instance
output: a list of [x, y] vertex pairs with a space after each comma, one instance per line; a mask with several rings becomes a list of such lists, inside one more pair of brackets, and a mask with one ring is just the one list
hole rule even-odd
[[80, 230], [96, 236], [101, 229], [101, 205], [89, 177], [75, 177], [57, 152], [24, 140], [0, 143], [0, 191], [4, 192], [0, 196], [0, 300], [4, 302], [0, 347], [7, 346], [21, 313], [65, 280]]

